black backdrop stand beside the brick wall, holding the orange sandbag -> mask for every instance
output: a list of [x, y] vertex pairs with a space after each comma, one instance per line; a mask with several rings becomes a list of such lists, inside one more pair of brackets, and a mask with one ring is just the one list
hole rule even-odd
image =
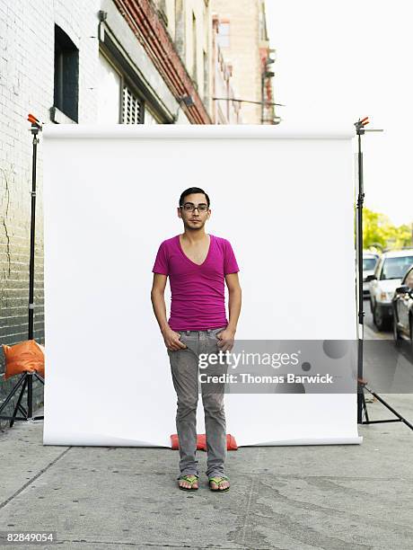
[[[33, 324], [34, 324], [34, 244], [35, 244], [35, 229], [36, 229], [36, 169], [37, 169], [37, 146], [39, 143], [38, 134], [41, 131], [40, 121], [37, 120], [32, 114], [29, 114], [29, 122], [31, 122], [31, 134], [33, 136], [33, 154], [31, 163], [31, 256], [29, 264], [29, 340], [33, 339]], [[13, 426], [14, 421], [27, 421], [27, 420], [42, 420], [43, 416], [33, 417], [33, 377], [38, 378], [44, 385], [44, 379], [40, 375], [34, 372], [24, 372], [20, 377], [17, 384], [13, 387], [12, 391], [4, 400], [4, 403], [0, 406], [0, 419], [10, 420], [10, 427]], [[22, 406], [22, 397], [27, 387], [27, 410]], [[20, 389], [20, 394], [17, 399], [17, 403], [14, 407], [12, 416], [5, 416], [1, 414], [7, 404], [11, 401], [14, 394]], [[22, 416], [17, 416], [17, 412], [20, 411]]]

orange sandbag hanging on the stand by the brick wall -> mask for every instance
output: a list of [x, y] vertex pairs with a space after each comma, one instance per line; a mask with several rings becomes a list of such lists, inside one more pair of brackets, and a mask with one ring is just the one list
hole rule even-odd
[[37, 371], [45, 376], [45, 348], [35, 340], [26, 340], [13, 346], [3, 345], [5, 358], [4, 379], [22, 372]]

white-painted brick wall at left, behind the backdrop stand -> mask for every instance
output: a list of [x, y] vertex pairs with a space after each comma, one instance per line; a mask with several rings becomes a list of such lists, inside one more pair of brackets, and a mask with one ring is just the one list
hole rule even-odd
[[[56, 22], [79, 49], [79, 123], [96, 120], [99, 4], [0, 0], [0, 343], [28, 337], [32, 139], [27, 114], [51, 123]], [[37, 191], [34, 338], [45, 343], [41, 134]], [[15, 382], [0, 383], [0, 402]], [[36, 404], [42, 390], [34, 386]]]

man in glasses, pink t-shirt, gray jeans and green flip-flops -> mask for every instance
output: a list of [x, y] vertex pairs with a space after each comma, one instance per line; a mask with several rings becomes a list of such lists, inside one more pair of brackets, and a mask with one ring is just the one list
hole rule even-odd
[[[241, 311], [238, 264], [229, 241], [205, 232], [211, 216], [209, 197], [198, 187], [180, 195], [178, 217], [183, 235], [163, 241], [154, 262], [151, 292], [154, 315], [171, 363], [173, 386], [178, 396], [176, 427], [180, 440], [180, 489], [198, 489], [197, 406], [199, 353], [232, 350]], [[164, 289], [170, 277], [171, 316], [166, 320]], [[229, 321], [224, 303], [224, 281], [228, 288]], [[221, 371], [222, 367], [221, 367]], [[210, 374], [209, 367], [206, 374]], [[215, 373], [213, 373], [215, 374]], [[224, 385], [206, 392], [202, 384], [205, 412], [207, 469], [212, 491], [228, 491], [224, 475], [226, 424]]]

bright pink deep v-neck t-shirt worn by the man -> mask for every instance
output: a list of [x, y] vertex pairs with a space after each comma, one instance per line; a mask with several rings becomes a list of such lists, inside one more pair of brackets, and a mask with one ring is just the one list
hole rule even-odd
[[204, 331], [228, 324], [225, 313], [224, 277], [239, 270], [229, 241], [209, 235], [205, 262], [189, 260], [180, 235], [161, 243], [153, 273], [170, 278], [172, 331]]

